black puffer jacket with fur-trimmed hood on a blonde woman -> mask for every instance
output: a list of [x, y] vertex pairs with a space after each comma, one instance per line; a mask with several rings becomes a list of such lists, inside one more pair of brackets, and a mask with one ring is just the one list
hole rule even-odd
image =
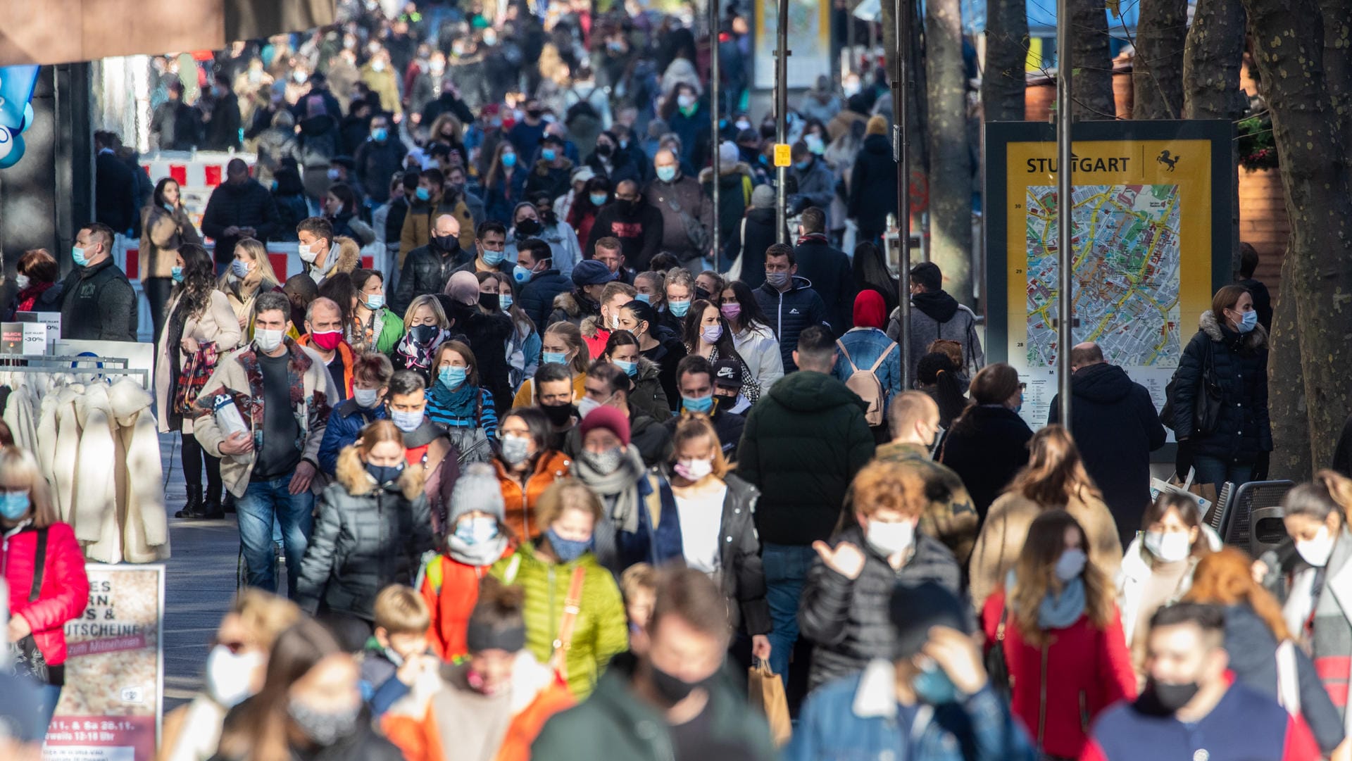
[[337, 477], [319, 496], [318, 518], [296, 580], [296, 604], [372, 620], [376, 595], [412, 584], [422, 553], [433, 547], [431, 515], [420, 466], [377, 487], [349, 446]]

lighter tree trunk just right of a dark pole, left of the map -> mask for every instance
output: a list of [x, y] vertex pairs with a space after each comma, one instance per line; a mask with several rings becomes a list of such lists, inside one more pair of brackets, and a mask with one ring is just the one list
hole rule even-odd
[[959, 0], [925, 3], [929, 119], [930, 258], [945, 289], [972, 303], [972, 158], [967, 145], [967, 74]]

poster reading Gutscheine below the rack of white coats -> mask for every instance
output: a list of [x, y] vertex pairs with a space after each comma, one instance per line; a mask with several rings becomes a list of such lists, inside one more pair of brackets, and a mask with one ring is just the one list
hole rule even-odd
[[89, 607], [66, 624], [66, 685], [45, 761], [153, 761], [164, 695], [162, 565], [88, 564]]

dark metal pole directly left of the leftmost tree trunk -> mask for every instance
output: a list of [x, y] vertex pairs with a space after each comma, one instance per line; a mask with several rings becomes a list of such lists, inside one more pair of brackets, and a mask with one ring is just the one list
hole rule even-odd
[[895, 0], [896, 23], [896, 77], [892, 78], [892, 114], [896, 126], [892, 127], [896, 146], [896, 242], [900, 251], [896, 258], [896, 304], [900, 310], [902, 334], [902, 388], [911, 388], [911, 132], [910, 92], [911, 92], [911, 0]]

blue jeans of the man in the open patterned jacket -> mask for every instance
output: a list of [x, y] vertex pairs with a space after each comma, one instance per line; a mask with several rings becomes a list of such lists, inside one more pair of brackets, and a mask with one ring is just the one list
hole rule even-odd
[[277, 591], [273, 547], [273, 522], [281, 526], [281, 546], [287, 556], [287, 593], [296, 593], [300, 558], [306, 557], [310, 530], [314, 527], [315, 496], [310, 491], [288, 491], [291, 476], [272, 481], [253, 481], [245, 496], [235, 500], [239, 542], [245, 549], [249, 585], [268, 592]]

